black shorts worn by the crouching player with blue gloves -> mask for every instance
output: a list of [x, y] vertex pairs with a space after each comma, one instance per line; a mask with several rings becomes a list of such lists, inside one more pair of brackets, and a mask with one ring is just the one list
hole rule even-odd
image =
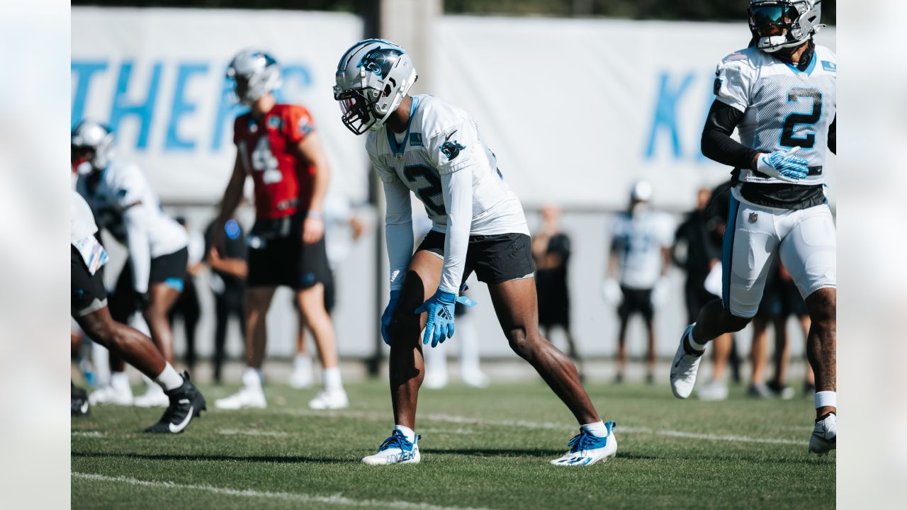
[[[444, 234], [435, 230], [428, 232], [416, 251], [420, 250], [444, 257]], [[469, 236], [463, 281], [473, 271], [479, 281], [492, 285], [532, 276], [535, 262], [532, 261], [530, 237], [516, 233]]]

